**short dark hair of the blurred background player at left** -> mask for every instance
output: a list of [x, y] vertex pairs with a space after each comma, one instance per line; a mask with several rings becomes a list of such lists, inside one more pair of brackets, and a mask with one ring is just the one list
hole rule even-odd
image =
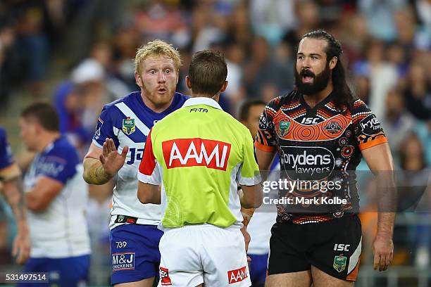
[[49, 103], [33, 103], [23, 110], [21, 117], [37, 120], [47, 131], [58, 132], [60, 130], [58, 114]]

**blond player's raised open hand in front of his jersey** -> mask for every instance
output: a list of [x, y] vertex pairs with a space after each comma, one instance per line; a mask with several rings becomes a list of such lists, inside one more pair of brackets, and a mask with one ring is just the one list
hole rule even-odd
[[113, 139], [106, 139], [102, 148], [102, 154], [99, 157], [105, 173], [113, 177], [123, 167], [128, 151], [129, 147], [125, 146], [123, 151], [118, 153]]

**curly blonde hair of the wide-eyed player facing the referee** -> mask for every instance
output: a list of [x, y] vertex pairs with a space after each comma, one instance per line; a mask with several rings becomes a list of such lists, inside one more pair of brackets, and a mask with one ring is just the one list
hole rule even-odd
[[168, 56], [168, 58], [173, 60], [175, 69], [180, 70], [180, 52], [178, 52], [171, 44], [163, 42], [162, 40], [154, 40], [137, 49], [135, 56], [135, 72], [139, 75], [141, 75], [142, 72], [142, 63], [149, 56]]

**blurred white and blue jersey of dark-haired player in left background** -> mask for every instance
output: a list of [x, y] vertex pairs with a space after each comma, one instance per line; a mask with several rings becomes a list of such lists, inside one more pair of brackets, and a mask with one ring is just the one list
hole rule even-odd
[[27, 213], [32, 258], [64, 258], [89, 255], [85, 212], [88, 186], [82, 179], [82, 162], [65, 137], [61, 136], [37, 153], [25, 174], [25, 191], [42, 177], [60, 181], [60, 193], [42, 212]]

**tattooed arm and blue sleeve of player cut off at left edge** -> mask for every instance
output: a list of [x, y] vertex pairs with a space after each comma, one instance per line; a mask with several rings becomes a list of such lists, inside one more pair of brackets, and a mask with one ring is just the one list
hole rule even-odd
[[0, 127], [0, 192], [11, 206], [18, 227], [12, 248], [12, 255], [16, 256], [18, 264], [24, 263], [30, 255], [30, 238], [20, 175], [20, 168], [13, 160], [6, 132]]

